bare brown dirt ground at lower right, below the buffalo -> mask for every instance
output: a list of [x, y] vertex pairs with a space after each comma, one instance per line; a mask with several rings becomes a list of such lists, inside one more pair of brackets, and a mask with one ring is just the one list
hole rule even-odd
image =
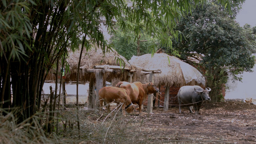
[[144, 108], [141, 115], [125, 119], [154, 144], [256, 144], [256, 105], [243, 102], [204, 103], [199, 115], [186, 107], [181, 114], [172, 107], [154, 108], [148, 115]]

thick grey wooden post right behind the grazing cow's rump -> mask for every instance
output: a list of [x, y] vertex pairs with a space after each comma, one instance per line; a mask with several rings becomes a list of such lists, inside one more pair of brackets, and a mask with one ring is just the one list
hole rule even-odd
[[98, 91], [103, 87], [103, 73], [101, 70], [95, 70], [95, 77], [96, 77], [96, 98], [95, 98], [95, 108], [99, 108], [99, 98], [98, 98]]

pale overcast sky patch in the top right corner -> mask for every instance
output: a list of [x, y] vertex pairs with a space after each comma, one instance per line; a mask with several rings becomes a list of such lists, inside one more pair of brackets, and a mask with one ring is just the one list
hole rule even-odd
[[245, 0], [236, 21], [241, 26], [244, 26], [244, 24], [250, 24], [251, 27], [256, 26], [256, 0]]

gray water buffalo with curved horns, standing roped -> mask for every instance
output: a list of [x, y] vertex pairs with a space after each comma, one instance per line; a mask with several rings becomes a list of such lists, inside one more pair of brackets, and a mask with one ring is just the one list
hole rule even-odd
[[185, 106], [189, 106], [188, 108], [191, 113], [193, 113], [191, 110], [191, 106], [193, 106], [195, 108], [195, 114], [199, 114], [202, 102], [205, 100], [211, 100], [209, 97], [209, 91], [211, 91], [209, 87], [204, 90], [198, 85], [187, 85], [181, 87], [177, 95], [180, 113], [182, 112], [181, 105], [184, 104]]

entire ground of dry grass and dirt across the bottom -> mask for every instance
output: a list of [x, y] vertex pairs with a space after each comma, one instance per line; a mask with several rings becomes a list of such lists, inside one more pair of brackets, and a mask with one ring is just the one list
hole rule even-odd
[[[115, 107], [111, 107], [113, 109]], [[140, 115], [119, 115], [119, 109], [108, 115], [98, 109], [79, 108], [80, 137], [76, 108], [64, 108], [59, 119], [59, 131], [46, 135], [38, 124], [42, 115], [15, 124], [10, 113], [0, 117], [1, 144], [254, 144], [255, 106], [245, 103], [204, 104], [201, 115], [190, 114], [184, 108], [163, 111], [146, 110]], [[118, 111], [118, 113], [116, 113]], [[56, 129], [55, 129], [56, 130]], [[55, 134], [56, 133], [56, 134]]]

